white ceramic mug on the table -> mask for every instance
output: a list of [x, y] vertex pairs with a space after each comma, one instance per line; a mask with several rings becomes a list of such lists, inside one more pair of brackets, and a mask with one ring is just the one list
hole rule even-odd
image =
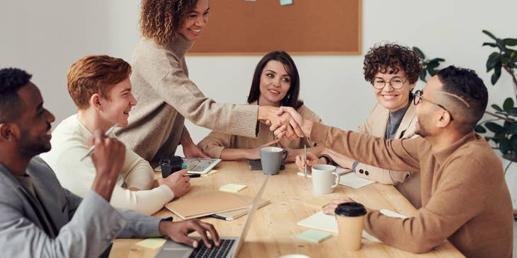
[[334, 165], [312, 166], [312, 192], [316, 194], [330, 194], [339, 184], [339, 174]]

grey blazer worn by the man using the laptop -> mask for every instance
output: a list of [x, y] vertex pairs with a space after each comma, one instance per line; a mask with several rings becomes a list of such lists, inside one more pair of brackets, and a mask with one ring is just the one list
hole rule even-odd
[[116, 210], [93, 191], [77, 197], [61, 187], [40, 157], [30, 160], [25, 174], [57, 235], [46, 232], [39, 209], [31, 204], [32, 187], [25, 188], [26, 182], [0, 163], [1, 257], [98, 257], [114, 238], [159, 236], [161, 218]]

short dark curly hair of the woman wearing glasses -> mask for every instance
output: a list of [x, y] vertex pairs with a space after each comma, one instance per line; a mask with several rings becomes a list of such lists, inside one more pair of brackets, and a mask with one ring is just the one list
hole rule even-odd
[[365, 55], [363, 73], [366, 81], [373, 81], [375, 74], [397, 74], [402, 69], [409, 83], [418, 81], [422, 66], [419, 55], [408, 47], [387, 43], [374, 46]]

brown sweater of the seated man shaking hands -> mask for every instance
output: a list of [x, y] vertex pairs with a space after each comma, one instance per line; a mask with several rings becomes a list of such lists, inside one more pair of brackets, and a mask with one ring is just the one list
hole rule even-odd
[[387, 245], [426, 252], [448, 239], [467, 257], [511, 258], [510, 193], [501, 160], [482, 136], [472, 131], [433, 152], [421, 137], [386, 140], [315, 123], [310, 140], [380, 168], [421, 172], [423, 206], [414, 217], [365, 216], [365, 230]]

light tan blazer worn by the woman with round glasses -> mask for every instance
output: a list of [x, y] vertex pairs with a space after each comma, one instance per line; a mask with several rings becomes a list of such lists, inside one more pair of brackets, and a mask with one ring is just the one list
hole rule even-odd
[[[360, 125], [358, 131], [364, 134], [384, 138], [386, 135], [387, 121], [390, 111], [379, 103], [373, 107], [370, 117]], [[400, 122], [394, 139], [408, 139], [415, 135], [416, 106], [411, 103]], [[381, 184], [394, 184], [394, 187], [406, 197], [416, 209], [422, 206], [420, 173], [385, 170], [371, 165], [359, 163], [356, 166], [359, 177], [380, 182]]]

